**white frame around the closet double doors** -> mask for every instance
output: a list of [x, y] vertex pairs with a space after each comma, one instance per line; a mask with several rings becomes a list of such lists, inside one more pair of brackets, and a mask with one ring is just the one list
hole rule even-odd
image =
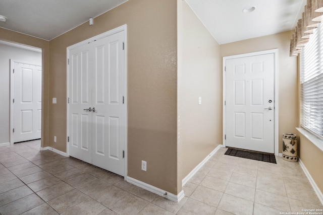
[[[67, 73], [66, 73], [66, 76], [67, 76], [67, 90], [66, 90], [66, 92], [67, 92], [67, 98], [69, 97], [69, 83], [70, 83], [70, 80], [69, 80], [69, 65], [68, 65], [68, 58], [69, 58], [69, 52], [70, 52], [70, 49], [73, 49], [73, 48], [76, 48], [76, 47], [78, 47], [78, 46], [82, 46], [82, 45], [84, 45], [84, 44], [87, 44], [87, 43], [89, 43], [89, 42], [92, 42], [93, 40], [99, 40], [99, 39], [101, 39], [101, 38], [104, 38], [104, 37], [108, 37], [108, 36], [110, 36], [110, 35], [113, 35], [113, 34], [116, 34], [116, 33], [119, 33], [119, 32], [124, 32], [124, 38], [125, 38], [125, 41], [124, 41], [124, 52], [125, 52], [125, 54], [124, 54], [124, 56], [125, 56], [125, 59], [124, 59], [124, 63], [125, 63], [125, 80], [124, 80], [124, 82], [125, 82], [125, 146], [124, 146], [124, 149], [125, 149], [125, 166], [124, 166], [124, 171], [125, 171], [125, 173], [124, 173], [124, 179], [125, 180], [127, 180], [127, 174], [128, 174], [128, 139], [127, 139], [127, 137], [128, 137], [128, 115], [127, 115], [127, 113], [128, 113], [128, 103], [127, 103], [127, 71], [128, 71], [128, 67], [127, 67], [127, 62], [128, 62], [128, 60], [127, 60], [127, 56], [128, 56], [128, 54], [127, 54], [127, 25], [122, 25], [122, 26], [120, 26], [120, 27], [117, 27], [117, 28], [115, 28], [115, 29], [112, 29], [112, 30], [110, 30], [110, 31], [107, 31], [107, 32], [104, 32], [104, 33], [102, 33], [102, 34], [99, 34], [99, 35], [96, 35], [96, 36], [94, 36], [94, 37], [91, 37], [91, 38], [89, 38], [89, 39], [86, 39], [86, 40], [84, 40], [84, 41], [82, 41], [82, 42], [79, 42], [79, 43], [76, 43], [76, 44], [74, 44], [74, 45], [71, 45], [71, 46], [69, 46], [69, 47], [67, 47], [67, 55], [66, 55], [66, 71], [67, 71]], [[68, 114], [69, 114], [69, 105], [68, 105], [68, 101], [67, 101], [67, 127], [66, 127], [66, 129], [67, 129], [67, 136], [69, 136], [70, 134], [69, 134], [69, 116], [68, 116]], [[68, 138], [66, 137], [66, 154], [67, 154], [67, 156], [69, 157], [70, 156], [70, 152], [69, 152], [69, 142], [68, 142]]]

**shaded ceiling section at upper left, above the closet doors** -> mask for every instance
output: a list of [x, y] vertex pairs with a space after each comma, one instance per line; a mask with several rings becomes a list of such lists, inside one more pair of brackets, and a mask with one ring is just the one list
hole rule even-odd
[[0, 27], [51, 40], [128, 0], [0, 0]]

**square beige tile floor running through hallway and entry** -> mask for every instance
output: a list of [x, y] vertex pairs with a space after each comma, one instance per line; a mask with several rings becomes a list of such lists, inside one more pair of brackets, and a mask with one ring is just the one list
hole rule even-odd
[[282, 214], [323, 206], [298, 163], [216, 155], [173, 202], [40, 141], [0, 148], [0, 214]]

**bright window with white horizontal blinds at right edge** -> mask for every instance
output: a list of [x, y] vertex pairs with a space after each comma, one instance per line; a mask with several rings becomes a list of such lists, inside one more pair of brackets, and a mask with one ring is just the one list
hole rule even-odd
[[314, 31], [300, 54], [302, 126], [323, 137], [323, 25]]

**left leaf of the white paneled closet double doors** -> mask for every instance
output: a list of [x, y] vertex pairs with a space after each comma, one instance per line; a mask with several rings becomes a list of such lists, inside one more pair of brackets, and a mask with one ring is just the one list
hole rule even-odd
[[91, 44], [70, 50], [69, 64], [69, 152], [92, 163], [92, 67]]

